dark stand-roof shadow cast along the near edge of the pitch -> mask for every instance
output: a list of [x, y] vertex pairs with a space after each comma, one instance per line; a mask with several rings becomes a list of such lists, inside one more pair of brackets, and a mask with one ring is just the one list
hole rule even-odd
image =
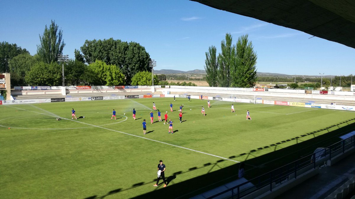
[[[311, 140], [306, 140], [306, 141], [301, 141], [298, 144], [294, 144], [289, 147], [281, 148], [279, 150], [273, 151], [271, 153], [267, 153], [261, 156], [255, 157], [253, 153], [257, 152], [258, 150], [263, 150], [271, 147], [279, 147], [278, 144], [273, 144], [273, 146], [265, 146], [265, 147], [260, 147], [257, 150], [253, 150], [253, 152], [249, 153], [242, 153], [240, 155], [233, 155], [230, 156], [229, 159], [234, 159], [238, 158], [241, 155], [245, 156], [253, 156], [254, 158], [252, 159], [247, 159], [244, 161], [245, 163], [245, 178], [246, 179], [252, 179], [254, 177], [257, 177], [261, 174], [264, 174], [266, 172], [269, 172], [273, 169], [276, 169], [278, 167], [281, 167], [285, 164], [288, 164], [292, 161], [295, 161], [299, 159], [302, 155], [304, 154], [309, 154], [313, 153], [313, 151], [319, 147], [320, 145], [330, 145], [334, 143], [334, 137], [339, 137], [340, 134], [345, 134], [348, 131], [353, 131], [355, 129], [355, 123], [350, 124], [348, 126], [341, 127], [340, 129], [331, 131], [329, 133], [326, 133], [324, 135], [319, 135], [316, 136], [315, 138]], [[313, 135], [314, 132], [310, 135]], [[298, 138], [291, 138], [287, 141], [295, 141], [295, 140], [300, 140], [301, 137]], [[285, 143], [285, 142], [280, 142], [280, 143]], [[187, 169], [185, 171], [171, 171], [173, 172], [172, 176], [169, 176], [167, 179], [172, 179], [174, 180], [175, 178], [179, 177], [181, 174], [185, 174], [187, 172], [194, 172], [198, 169], [205, 168], [207, 166], [212, 166], [212, 167], [219, 167], [219, 163], [228, 161], [228, 160], [217, 160], [214, 163], [197, 163], [195, 167], [191, 167], [190, 169]], [[222, 186], [226, 183], [229, 183], [231, 181], [237, 180], [238, 178], [238, 167], [239, 163], [233, 164], [231, 166], [225, 167], [225, 168], [220, 168], [218, 170], [212, 171], [213, 168], [210, 168], [209, 171], [207, 171], [206, 174], [197, 176], [195, 178], [191, 178], [189, 180], [179, 182], [179, 183], [174, 183], [170, 184], [169, 186], [161, 189], [152, 189], [154, 191], [148, 192], [148, 193], [143, 193], [142, 195], [139, 195], [134, 198], [155, 198], [157, 195], [168, 195], [169, 198], [191, 198], [193, 196], [196, 196], [198, 194], [204, 193], [206, 191], [209, 191], [213, 188]], [[211, 172], [212, 171], [212, 172]], [[171, 173], [167, 173], [170, 174]], [[103, 196], [97, 196], [93, 195], [91, 197], [88, 197], [86, 199], [103, 199], [108, 195], [111, 194], [119, 194], [120, 192], [124, 192], [130, 189], [134, 189], [140, 186], [143, 186], [145, 184], [152, 184], [156, 181], [156, 178], [152, 179], [149, 182], [138, 182], [135, 184], [132, 184], [130, 188], [126, 189], [115, 189], [112, 191], [109, 191], [108, 194], [103, 195]], [[170, 181], [169, 181], [170, 182]], [[254, 182], [253, 182], [254, 183]], [[254, 184], [257, 184], [258, 182], [255, 182]], [[119, 197], [117, 195], [116, 197]]]

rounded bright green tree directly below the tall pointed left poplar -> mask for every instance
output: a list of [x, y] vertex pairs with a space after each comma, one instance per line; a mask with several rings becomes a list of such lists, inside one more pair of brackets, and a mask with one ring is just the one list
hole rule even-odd
[[62, 83], [62, 67], [57, 63], [37, 62], [24, 79], [31, 86], [59, 86]]

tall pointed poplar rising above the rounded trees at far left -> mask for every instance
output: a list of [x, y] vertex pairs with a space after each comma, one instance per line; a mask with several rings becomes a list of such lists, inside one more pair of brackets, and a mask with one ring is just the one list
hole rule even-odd
[[58, 31], [58, 25], [51, 20], [49, 29], [45, 25], [44, 33], [39, 35], [40, 45], [37, 45], [37, 54], [45, 63], [53, 63], [58, 60], [58, 55], [61, 55], [65, 46], [62, 41], [63, 31]]

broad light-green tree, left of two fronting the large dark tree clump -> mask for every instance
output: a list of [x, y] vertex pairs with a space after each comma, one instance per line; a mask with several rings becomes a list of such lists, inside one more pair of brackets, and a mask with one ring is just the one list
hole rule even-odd
[[115, 65], [108, 65], [103, 61], [97, 60], [89, 64], [88, 68], [97, 77], [92, 81], [94, 85], [114, 86], [125, 84], [124, 74], [122, 74], [120, 69]]

